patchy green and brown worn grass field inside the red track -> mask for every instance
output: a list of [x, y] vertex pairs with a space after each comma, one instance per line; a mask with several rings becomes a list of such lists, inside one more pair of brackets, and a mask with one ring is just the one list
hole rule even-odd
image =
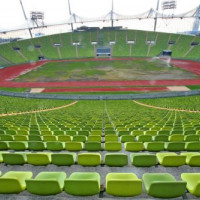
[[195, 79], [197, 75], [160, 60], [46, 63], [15, 79], [19, 82]]

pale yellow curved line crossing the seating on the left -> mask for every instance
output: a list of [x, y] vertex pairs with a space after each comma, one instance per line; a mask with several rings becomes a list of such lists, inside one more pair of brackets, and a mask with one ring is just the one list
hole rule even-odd
[[33, 110], [33, 111], [16, 112], [16, 113], [3, 113], [3, 114], [0, 114], [0, 117], [14, 116], [14, 115], [24, 115], [24, 114], [32, 114], [32, 113], [41, 113], [41, 112], [59, 110], [59, 109], [62, 109], [62, 108], [67, 108], [67, 107], [73, 106], [77, 102], [78, 101], [75, 101], [73, 103], [70, 103], [70, 104], [67, 104], [67, 105], [64, 105], [64, 106], [59, 106], [59, 107], [55, 107], [55, 108], [47, 108], [47, 109], [44, 109], [44, 110]]

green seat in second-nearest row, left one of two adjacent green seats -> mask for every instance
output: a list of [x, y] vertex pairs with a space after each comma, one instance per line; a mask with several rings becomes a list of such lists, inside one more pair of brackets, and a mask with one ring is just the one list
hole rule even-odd
[[124, 153], [106, 153], [104, 164], [110, 167], [123, 167], [128, 164], [128, 156]]

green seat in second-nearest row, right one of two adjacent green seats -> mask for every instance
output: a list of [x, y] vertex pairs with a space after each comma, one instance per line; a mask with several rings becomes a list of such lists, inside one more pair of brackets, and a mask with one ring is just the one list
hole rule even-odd
[[150, 153], [130, 154], [131, 163], [136, 167], [151, 167], [156, 165], [156, 156]]

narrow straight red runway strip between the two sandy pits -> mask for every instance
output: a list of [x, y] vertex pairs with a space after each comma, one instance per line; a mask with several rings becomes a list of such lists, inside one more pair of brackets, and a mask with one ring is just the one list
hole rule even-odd
[[149, 92], [149, 91], [168, 91], [166, 87], [134, 87], [134, 88], [55, 88], [45, 89], [42, 92]]

